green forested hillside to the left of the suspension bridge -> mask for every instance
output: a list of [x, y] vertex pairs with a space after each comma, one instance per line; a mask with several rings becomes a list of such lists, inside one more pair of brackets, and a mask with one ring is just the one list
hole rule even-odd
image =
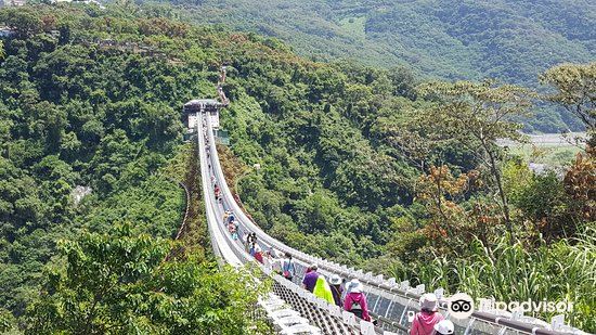
[[0, 22], [0, 333], [255, 330], [251, 279], [216, 271], [199, 222], [165, 262], [196, 162], [180, 111], [215, 93], [230, 35], [82, 4]]

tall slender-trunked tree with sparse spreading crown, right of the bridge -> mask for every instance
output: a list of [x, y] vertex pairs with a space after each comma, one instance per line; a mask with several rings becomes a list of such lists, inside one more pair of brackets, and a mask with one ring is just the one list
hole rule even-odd
[[530, 92], [509, 85], [495, 87], [490, 81], [430, 82], [422, 86], [420, 91], [438, 101], [426, 121], [433, 123], [441, 134], [457, 139], [476, 152], [479, 163], [489, 168], [501, 199], [503, 218], [509, 233], [514, 234], [503, 189], [502, 149], [496, 141], [522, 139], [521, 125], [513, 123], [511, 118], [528, 113]]

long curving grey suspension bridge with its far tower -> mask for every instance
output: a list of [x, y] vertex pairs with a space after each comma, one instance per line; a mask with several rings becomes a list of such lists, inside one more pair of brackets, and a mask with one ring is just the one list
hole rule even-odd
[[[267, 318], [281, 334], [407, 334], [410, 328], [409, 315], [419, 310], [418, 301], [425, 293], [425, 285], [411, 287], [407, 281], [398, 282], [396, 279], [385, 279], [383, 274], [375, 275], [346, 265], [339, 265], [326, 259], [318, 258], [271, 237], [262, 231], [243, 210], [232, 194], [220, 165], [216, 147], [213, 125], [218, 125], [219, 116], [213, 111], [229, 104], [221, 81], [225, 72], [220, 75], [218, 93], [220, 101], [196, 100], [185, 105], [190, 119], [190, 127], [195, 134], [199, 151], [200, 178], [205, 201], [208, 231], [213, 253], [218, 261], [223, 265], [242, 268], [254, 265], [259, 269], [259, 279], [270, 278], [273, 282], [272, 292], [260, 299], [260, 318]], [[215, 109], [213, 109], [215, 108]], [[213, 185], [220, 192], [216, 194]], [[288, 281], [263, 267], [250, 256], [242, 239], [233, 239], [224, 222], [224, 212], [230, 210], [238, 223], [238, 235], [246, 232], [256, 233], [262, 249], [274, 248], [293, 256], [296, 268], [294, 281]], [[376, 324], [360, 320], [354, 314], [344, 311], [340, 307], [329, 305], [318, 298], [299, 285], [299, 280], [311, 263], [319, 266], [319, 272], [331, 278], [337, 274], [340, 278], [358, 279], [364, 284], [364, 293], [368, 300], [368, 310]], [[515, 283], [511, 283], [515, 284]], [[440, 312], [451, 320], [455, 326], [455, 334], [579, 334], [581, 331], [562, 323], [555, 318], [550, 323], [526, 317], [522, 313], [508, 313], [498, 310], [475, 311], [467, 319], [455, 319], [446, 309], [446, 299], [442, 297], [442, 289], [436, 291], [440, 298]]]

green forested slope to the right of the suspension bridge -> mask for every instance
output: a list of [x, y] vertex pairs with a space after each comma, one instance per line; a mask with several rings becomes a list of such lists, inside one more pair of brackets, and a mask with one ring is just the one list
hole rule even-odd
[[[572, 195], [594, 192], [585, 184], [594, 156], [578, 158], [563, 181], [500, 149], [497, 138], [519, 138], [520, 125], [501, 119], [523, 109], [513, 102], [526, 90], [439, 83], [423, 99], [424, 86], [403, 73], [300, 63], [229, 63], [222, 126], [233, 153], [261, 165], [238, 192], [262, 228], [307, 253], [450, 292], [572, 299], [581, 307], [567, 320], [595, 326], [585, 314], [594, 308], [595, 207], [589, 195]], [[594, 77], [595, 64], [586, 67]]]

